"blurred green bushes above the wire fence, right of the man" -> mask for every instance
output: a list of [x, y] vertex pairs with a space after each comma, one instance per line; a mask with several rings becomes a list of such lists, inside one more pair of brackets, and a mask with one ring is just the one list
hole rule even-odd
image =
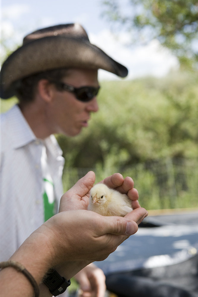
[[122, 168], [167, 156], [197, 157], [197, 80], [172, 73], [164, 79], [103, 82], [100, 110], [89, 128], [72, 139], [58, 136], [66, 166]]

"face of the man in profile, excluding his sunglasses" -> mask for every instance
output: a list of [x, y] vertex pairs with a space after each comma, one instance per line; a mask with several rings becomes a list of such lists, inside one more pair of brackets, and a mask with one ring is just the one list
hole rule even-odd
[[[97, 70], [70, 69], [61, 82], [76, 88], [99, 86]], [[75, 94], [58, 91], [55, 86], [52, 86], [52, 99], [47, 112], [52, 133], [75, 136], [83, 127], [88, 126], [91, 112], [98, 110], [96, 97], [89, 102], [81, 102], [76, 99]]]

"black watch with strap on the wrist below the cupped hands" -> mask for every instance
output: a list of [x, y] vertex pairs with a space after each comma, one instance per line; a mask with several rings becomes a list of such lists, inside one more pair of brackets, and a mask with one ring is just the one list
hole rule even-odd
[[66, 291], [66, 288], [71, 285], [70, 279], [67, 281], [55, 269], [50, 269], [43, 283], [49, 288], [53, 296], [58, 296]]

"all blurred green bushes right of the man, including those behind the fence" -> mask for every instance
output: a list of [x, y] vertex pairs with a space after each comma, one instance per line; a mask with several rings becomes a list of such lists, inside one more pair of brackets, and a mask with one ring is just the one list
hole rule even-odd
[[103, 82], [100, 110], [75, 138], [58, 136], [64, 189], [88, 170], [96, 182], [115, 172], [131, 176], [147, 209], [197, 206], [197, 76]]

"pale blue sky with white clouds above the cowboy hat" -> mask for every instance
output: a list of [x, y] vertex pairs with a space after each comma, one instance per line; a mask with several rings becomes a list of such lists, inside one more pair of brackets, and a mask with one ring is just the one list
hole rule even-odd
[[[102, 18], [101, 0], [1, 0], [1, 39], [15, 49], [23, 37], [47, 26], [80, 23], [88, 33], [91, 43], [99, 46], [113, 59], [129, 69], [127, 79], [146, 75], [161, 77], [178, 67], [170, 51], [157, 40], [148, 45], [126, 46], [129, 33], [111, 32], [110, 23]], [[126, 5], [123, 1], [123, 5]], [[126, 7], [127, 9], [127, 7]], [[99, 70], [99, 80], [118, 79], [114, 74]]]

